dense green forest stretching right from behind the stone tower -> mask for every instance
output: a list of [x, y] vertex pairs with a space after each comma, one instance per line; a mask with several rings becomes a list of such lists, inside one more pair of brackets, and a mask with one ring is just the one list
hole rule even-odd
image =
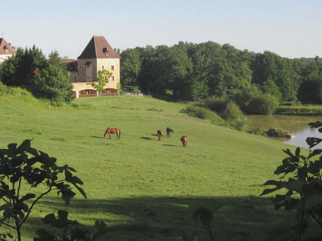
[[265, 51], [179, 42], [171, 47], [147, 45], [119, 53], [121, 83], [144, 93], [170, 93], [176, 99], [228, 97], [255, 85], [280, 102], [322, 103], [322, 62], [319, 57], [289, 59]]

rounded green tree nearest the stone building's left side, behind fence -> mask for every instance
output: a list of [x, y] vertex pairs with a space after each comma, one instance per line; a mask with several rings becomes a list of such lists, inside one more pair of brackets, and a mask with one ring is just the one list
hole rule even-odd
[[69, 71], [56, 50], [49, 54], [47, 67], [35, 69], [33, 83], [33, 93], [37, 97], [56, 102], [69, 102], [73, 99]]

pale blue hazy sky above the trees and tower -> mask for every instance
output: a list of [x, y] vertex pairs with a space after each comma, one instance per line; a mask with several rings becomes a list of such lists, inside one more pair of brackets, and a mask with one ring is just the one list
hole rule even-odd
[[282, 57], [322, 57], [322, 1], [6, 1], [0, 37], [77, 58], [93, 35], [113, 48], [229, 43]]

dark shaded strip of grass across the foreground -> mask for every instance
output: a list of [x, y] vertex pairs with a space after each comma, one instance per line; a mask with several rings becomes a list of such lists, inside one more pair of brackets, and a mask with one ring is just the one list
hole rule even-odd
[[[183, 230], [193, 231], [185, 220], [191, 220], [186, 213], [189, 205], [202, 206], [205, 202], [225, 204], [214, 213], [213, 232], [238, 232], [247, 240], [267, 240], [270, 229], [282, 220], [293, 215], [289, 212], [274, 211], [269, 198], [245, 197], [129, 197], [108, 199], [76, 199], [65, 206], [58, 198], [40, 201], [42, 207], [48, 207], [57, 216], [59, 209], [67, 210], [69, 219], [75, 215], [83, 217], [77, 220], [87, 221], [93, 227], [96, 220], [104, 221], [109, 232], [98, 240], [182, 240]], [[46, 213], [47, 214], [47, 213]], [[45, 216], [41, 213], [40, 215]], [[84, 220], [86, 219], [86, 220]], [[30, 217], [25, 231], [30, 235], [36, 227], [43, 226], [39, 218]], [[198, 240], [209, 240], [208, 234], [201, 232]]]

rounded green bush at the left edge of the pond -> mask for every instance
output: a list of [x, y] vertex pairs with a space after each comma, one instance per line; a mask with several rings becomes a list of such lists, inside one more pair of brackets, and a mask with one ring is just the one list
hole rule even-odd
[[223, 111], [223, 118], [236, 130], [243, 130], [246, 125], [244, 114], [238, 105], [233, 102], [227, 104], [226, 109]]

